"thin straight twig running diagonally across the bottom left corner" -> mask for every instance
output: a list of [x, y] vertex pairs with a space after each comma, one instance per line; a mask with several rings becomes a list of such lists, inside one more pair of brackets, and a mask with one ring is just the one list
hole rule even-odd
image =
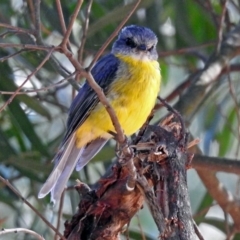
[[66, 240], [65, 237], [58, 232], [58, 230], [50, 223], [48, 222], [45, 217], [42, 216], [41, 213], [39, 213], [37, 211], [37, 209], [30, 203], [28, 202], [13, 186], [12, 184], [5, 178], [3, 178], [2, 176], [0, 176], [0, 180], [6, 185], [8, 186], [19, 198], [21, 198], [21, 200], [28, 205], [46, 224], [48, 227], [50, 227], [55, 233], [58, 234], [59, 237], [61, 237], [63, 240]]

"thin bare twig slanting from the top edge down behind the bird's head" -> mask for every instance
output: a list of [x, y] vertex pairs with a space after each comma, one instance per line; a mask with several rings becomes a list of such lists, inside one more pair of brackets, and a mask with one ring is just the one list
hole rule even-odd
[[94, 56], [92, 62], [90, 63], [88, 70], [90, 71], [95, 64], [95, 62], [98, 60], [98, 58], [102, 55], [104, 50], [107, 48], [109, 43], [117, 36], [118, 32], [122, 29], [123, 25], [129, 20], [129, 18], [133, 15], [135, 10], [137, 9], [138, 5], [140, 4], [141, 0], [137, 0], [136, 4], [133, 6], [132, 10], [129, 12], [129, 14], [122, 20], [122, 22], [118, 25], [118, 27], [115, 29], [115, 31], [110, 35], [110, 37], [106, 40], [106, 42], [102, 45], [102, 47], [98, 50], [97, 54]]

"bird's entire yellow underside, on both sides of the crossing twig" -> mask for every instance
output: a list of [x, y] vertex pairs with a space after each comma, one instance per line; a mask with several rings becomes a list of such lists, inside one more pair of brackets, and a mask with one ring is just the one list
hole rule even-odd
[[[114, 108], [124, 134], [131, 135], [141, 128], [154, 107], [160, 88], [160, 69], [157, 61], [140, 61], [117, 56], [122, 63], [106, 94]], [[99, 103], [76, 132], [77, 147], [98, 138], [111, 138], [115, 132], [105, 107]]]

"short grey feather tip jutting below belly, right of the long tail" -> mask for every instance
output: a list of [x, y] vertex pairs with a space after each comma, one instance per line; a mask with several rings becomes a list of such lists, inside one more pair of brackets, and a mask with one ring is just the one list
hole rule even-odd
[[80, 171], [97, 153], [104, 147], [108, 139], [97, 138], [83, 148], [80, 158], [76, 165], [76, 170]]

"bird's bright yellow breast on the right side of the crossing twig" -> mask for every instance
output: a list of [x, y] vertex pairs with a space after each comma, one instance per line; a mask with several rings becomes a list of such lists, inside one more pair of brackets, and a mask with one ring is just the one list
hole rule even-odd
[[154, 107], [160, 88], [160, 69], [156, 61], [140, 61], [117, 56], [123, 61], [110, 89], [116, 93], [111, 101], [126, 135], [135, 133]]

